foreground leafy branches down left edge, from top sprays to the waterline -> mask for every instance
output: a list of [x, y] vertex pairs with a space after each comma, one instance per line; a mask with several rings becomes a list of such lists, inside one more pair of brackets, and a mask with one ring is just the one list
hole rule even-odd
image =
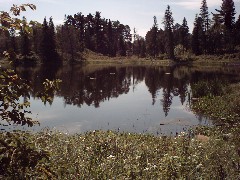
[[[21, 11], [26, 11], [26, 7], [32, 10], [36, 9], [33, 4], [13, 5], [10, 12], [14, 16], [20, 15]], [[9, 31], [9, 29], [20, 30], [24, 24], [25, 31], [28, 31], [28, 25], [26, 22], [22, 22], [18, 18], [12, 18], [8, 12], [0, 12], [0, 30]], [[8, 52], [4, 52], [4, 55], [9, 57]], [[42, 99], [44, 103], [52, 102], [54, 92], [59, 89], [58, 84], [60, 80], [44, 82], [43, 92], [38, 93], [37, 97]], [[26, 114], [31, 113], [25, 110], [30, 106], [28, 100], [20, 103], [21, 97], [26, 99], [30, 98], [31, 87], [27, 82], [20, 77], [13, 70], [0, 69], [0, 116], [3, 121], [11, 122], [15, 124], [33, 126], [36, 122], [31, 118], [26, 117]]]

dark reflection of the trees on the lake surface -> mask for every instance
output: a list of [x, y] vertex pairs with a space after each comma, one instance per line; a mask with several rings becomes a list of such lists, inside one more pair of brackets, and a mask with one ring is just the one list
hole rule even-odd
[[[226, 69], [199, 70], [187, 66], [100, 66], [74, 65], [62, 67], [18, 67], [17, 73], [32, 84], [31, 95], [41, 91], [45, 79], [61, 79], [61, 90], [55, 97], [61, 97], [65, 106], [83, 105], [101, 107], [101, 103], [133, 93], [139, 84], [144, 83], [152, 97], [152, 106], [160, 104], [165, 117], [169, 116], [174, 97], [179, 97], [183, 105], [189, 101], [192, 84], [198, 81], [226, 79], [229, 82], [240, 80], [238, 71]], [[138, 97], [141, 98], [141, 97]], [[117, 101], [116, 101], [117, 103]], [[129, 106], [128, 104], [125, 105]], [[132, 105], [131, 105], [132, 106]], [[135, 106], [135, 105], [134, 105]], [[138, 106], [136, 104], [136, 106]], [[199, 117], [199, 119], [202, 119]]]

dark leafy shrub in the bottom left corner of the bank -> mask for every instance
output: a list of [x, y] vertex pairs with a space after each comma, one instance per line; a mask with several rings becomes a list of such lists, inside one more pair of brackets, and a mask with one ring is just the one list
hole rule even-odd
[[[0, 175], [10, 179], [26, 179], [44, 174], [42, 161], [48, 159], [47, 151], [40, 149], [27, 132], [0, 133]], [[47, 177], [47, 176], [45, 176]]]

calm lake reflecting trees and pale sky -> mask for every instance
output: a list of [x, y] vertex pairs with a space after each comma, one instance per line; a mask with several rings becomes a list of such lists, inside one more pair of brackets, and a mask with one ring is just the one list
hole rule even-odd
[[[192, 84], [240, 82], [237, 67], [74, 65], [16, 71], [33, 89], [31, 117], [41, 125], [32, 129], [48, 127], [66, 133], [114, 130], [175, 135], [199, 124], [211, 125], [211, 120], [189, 108]], [[52, 104], [44, 105], [36, 93], [43, 89], [44, 79], [55, 78], [62, 80], [60, 91]]]

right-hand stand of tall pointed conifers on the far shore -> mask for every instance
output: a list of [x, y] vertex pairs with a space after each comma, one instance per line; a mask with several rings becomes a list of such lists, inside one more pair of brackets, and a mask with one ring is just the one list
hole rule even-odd
[[[170, 6], [163, 18], [164, 29], [159, 29], [156, 17], [146, 35], [146, 51], [152, 57], [167, 54], [175, 55], [192, 52], [195, 55], [233, 53], [240, 45], [240, 16], [235, 21], [233, 0], [222, 0], [220, 9], [208, 11], [207, 1], [202, 0], [200, 12], [196, 14], [192, 33], [187, 20], [174, 24]], [[211, 18], [212, 17], [212, 18]]]

